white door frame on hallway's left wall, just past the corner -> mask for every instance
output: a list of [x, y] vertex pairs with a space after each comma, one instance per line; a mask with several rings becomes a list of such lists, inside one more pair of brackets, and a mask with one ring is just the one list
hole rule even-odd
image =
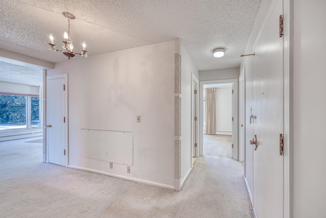
[[[194, 85], [196, 84], [196, 89], [197, 89], [197, 95], [196, 95], [196, 114], [195, 114], [195, 111], [194, 111], [194, 95], [195, 95], [195, 90], [194, 90]], [[197, 148], [196, 148], [196, 157], [199, 157], [199, 93], [200, 91], [198, 90], [199, 89], [199, 80], [195, 77], [195, 75], [193, 74], [192, 75], [192, 164], [191, 166], [193, 167], [193, 157], [194, 157], [194, 154], [193, 154], [193, 147], [194, 147], [194, 144], [195, 144], [195, 141], [194, 141], [194, 128], [195, 128], [195, 119], [194, 117], [198, 117], [197, 118], [197, 126], [196, 126], [196, 141], [197, 141]]]

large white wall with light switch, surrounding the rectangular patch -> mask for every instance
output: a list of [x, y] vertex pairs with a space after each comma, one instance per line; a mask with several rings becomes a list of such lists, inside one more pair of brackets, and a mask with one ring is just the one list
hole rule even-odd
[[[69, 166], [174, 188], [174, 41], [57, 63], [68, 74]], [[185, 92], [186, 93], [186, 92]], [[137, 123], [141, 115], [141, 123]], [[133, 166], [83, 158], [85, 129], [133, 132]], [[105, 142], [103, 142], [105, 143]]]

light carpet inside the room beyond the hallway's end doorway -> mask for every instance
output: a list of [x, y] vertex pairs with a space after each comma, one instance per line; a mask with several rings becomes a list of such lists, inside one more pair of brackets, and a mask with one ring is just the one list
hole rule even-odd
[[232, 136], [204, 134], [204, 155], [232, 158]]

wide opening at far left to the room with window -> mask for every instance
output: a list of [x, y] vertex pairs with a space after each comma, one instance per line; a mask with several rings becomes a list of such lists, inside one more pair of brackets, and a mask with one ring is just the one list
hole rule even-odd
[[0, 59], [0, 141], [43, 135], [42, 85], [41, 69]]

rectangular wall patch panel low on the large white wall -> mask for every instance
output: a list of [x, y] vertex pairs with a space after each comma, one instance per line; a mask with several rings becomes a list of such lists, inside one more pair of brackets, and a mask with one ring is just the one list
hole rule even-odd
[[133, 165], [133, 133], [82, 129], [82, 157]]

